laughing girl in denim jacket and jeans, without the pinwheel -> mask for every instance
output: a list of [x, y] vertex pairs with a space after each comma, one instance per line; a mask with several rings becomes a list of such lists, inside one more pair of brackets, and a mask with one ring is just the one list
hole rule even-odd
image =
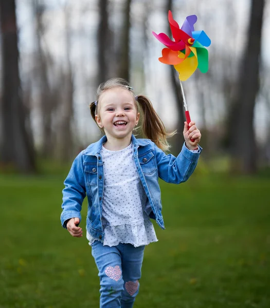
[[[143, 134], [132, 132], [143, 113]], [[91, 114], [105, 133], [75, 159], [64, 182], [61, 222], [74, 237], [82, 236], [81, 206], [88, 199], [86, 237], [100, 277], [100, 307], [133, 307], [139, 291], [143, 249], [156, 242], [150, 218], [164, 227], [158, 177], [185, 182], [201, 153], [200, 130], [185, 122], [181, 153], [166, 155], [169, 145], [151, 102], [136, 96], [127, 81], [111, 79], [97, 90]], [[194, 140], [194, 141], [191, 141]]]

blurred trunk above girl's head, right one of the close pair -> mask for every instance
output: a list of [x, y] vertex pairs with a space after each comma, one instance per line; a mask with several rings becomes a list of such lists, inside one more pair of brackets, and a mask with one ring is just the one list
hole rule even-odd
[[130, 9], [131, 0], [123, 2], [123, 26], [119, 47], [118, 77], [130, 80]]

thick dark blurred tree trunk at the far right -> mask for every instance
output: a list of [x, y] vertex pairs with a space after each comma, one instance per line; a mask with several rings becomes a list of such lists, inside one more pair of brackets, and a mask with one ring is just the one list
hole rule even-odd
[[259, 91], [259, 60], [264, 0], [252, 0], [247, 45], [242, 57], [239, 88], [230, 110], [230, 140], [233, 150], [232, 169], [243, 174], [257, 171], [257, 145], [254, 109]]

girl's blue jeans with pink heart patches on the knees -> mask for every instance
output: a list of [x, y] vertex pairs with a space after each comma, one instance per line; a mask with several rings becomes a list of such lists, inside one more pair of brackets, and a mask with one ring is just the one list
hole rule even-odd
[[100, 277], [100, 308], [133, 307], [145, 246], [120, 243], [110, 247], [100, 241], [91, 246]]

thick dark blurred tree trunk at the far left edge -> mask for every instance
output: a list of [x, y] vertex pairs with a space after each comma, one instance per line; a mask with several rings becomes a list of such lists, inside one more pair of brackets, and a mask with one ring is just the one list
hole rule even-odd
[[34, 148], [26, 122], [19, 75], [15, 0], [0, 1], [2, 34], [1, 161], [21, 172], [34, 172]]

